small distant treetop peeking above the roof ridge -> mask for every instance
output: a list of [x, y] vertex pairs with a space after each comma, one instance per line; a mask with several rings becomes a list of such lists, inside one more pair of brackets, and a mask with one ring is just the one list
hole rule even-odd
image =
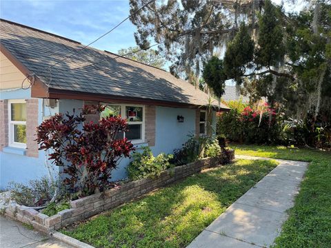
[[123, 48], [117, 52], [121, 56], [125, 56], [128, 59], [146, 63], [157, 68], [163, 68], [165, 65], [165, 59], [157, 50], [140, 50], [139, 47]]

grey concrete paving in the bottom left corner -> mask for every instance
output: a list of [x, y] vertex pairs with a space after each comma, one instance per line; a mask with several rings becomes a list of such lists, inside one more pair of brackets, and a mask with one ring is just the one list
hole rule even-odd
[[14, 220], [0, 216], [1, 248], [72, 248], [70, 245], [28, 229]]

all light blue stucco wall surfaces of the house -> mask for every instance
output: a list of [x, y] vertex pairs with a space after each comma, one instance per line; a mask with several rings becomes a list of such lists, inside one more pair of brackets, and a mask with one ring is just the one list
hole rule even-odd
[[[10, 92], [0, 92], [1, 99], [29, 99], [30, 90], [17, 90]], [[83, 101], [60, 99], [57, 107], [50, 108], [43, 106], [43, 100], [39, 99], [39, 123], [43, 116], [50, 116], [56, 112], [75, 112], [78, 114]], [[181, 148], [188, 140], [188, 134], [195, 134], [195, 110], [177, 107], [156, 107], [155, 120], [155, 146], [151, 147], [154, 156], [161, 152], [170, 154], [176, 148]], [[177, 116], [183, 116], [184, 122], [179, 123]], [[216, 112], [213, 113], [213, 126], [216, 130]], [[141, 147], [147, 143], [135, 145], [136, 152], [141, 152]], [[126, 178], [126, 166], [130, 163], [130, 158], [123, 158], [117, 169], [112, 172], [112, 180]], [[59, 167], [53, 165], [46, 166], [47, 157], [43, 151], [39, 152], [39, 158], [31, 158], [17, 154], [0, 152], [0, 187], [4, 188], [8, 182], [14, 180], [19, 183], [28, 183], [28, 180], [40, 178], [48, 175], [49, 171], [53, 176], [58, 174]], [[50, 169], [48, 169], [50, 168]]]

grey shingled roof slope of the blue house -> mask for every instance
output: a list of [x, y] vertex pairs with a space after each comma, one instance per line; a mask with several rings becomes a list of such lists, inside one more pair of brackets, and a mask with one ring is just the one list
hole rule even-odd
[[[77, 41], [3, 19], [0, 31], [1, 45], [36, 74], [48, 90], [190, 105], [208, 102], [207, 94], [165, 70], [95, 48], [81, 50], [84, 45]], [[50, 65], [77, 50], [81, 52], [48, 71]], [[217, 101], [213, 104], [218, 105]], [[228, 109], [225, 105], [221, 108]]]

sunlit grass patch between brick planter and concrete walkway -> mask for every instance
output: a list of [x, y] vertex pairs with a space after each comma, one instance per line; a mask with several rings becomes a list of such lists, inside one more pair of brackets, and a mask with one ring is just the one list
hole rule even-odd
[[276, 165], [239, 160], [208, 169], [63, 233], [94, 247], [185, 247]]

